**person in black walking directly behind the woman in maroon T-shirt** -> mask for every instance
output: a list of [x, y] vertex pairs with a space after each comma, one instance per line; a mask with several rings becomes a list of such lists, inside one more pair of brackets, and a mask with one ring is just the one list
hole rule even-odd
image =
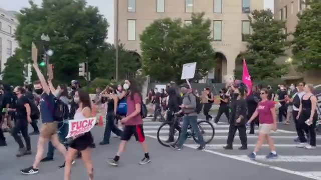
[[[252, 86], [252, 92], [246, 97], [247, 103], [247, 119], [250, 119], [253, 113], [256, 110], [257, 104], [260, 101], [260, 94], [257, 91], [257, 87], [255, 85]], [[250, 134], [254, 134], [254, 126], [259, 125], [259, 119], [256, 117], [250, 124]]]

